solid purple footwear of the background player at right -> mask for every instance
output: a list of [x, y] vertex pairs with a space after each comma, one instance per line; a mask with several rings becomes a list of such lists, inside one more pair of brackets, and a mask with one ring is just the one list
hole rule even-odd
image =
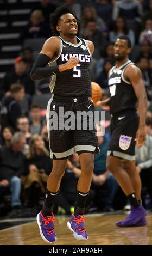
[[129, 216], [125, 220], [117, 222], [116, 225], [118, 227], [141, 227], [147, 224], [146, 215], [146, 210], [140, 205], [137, 208], [131, 208]]

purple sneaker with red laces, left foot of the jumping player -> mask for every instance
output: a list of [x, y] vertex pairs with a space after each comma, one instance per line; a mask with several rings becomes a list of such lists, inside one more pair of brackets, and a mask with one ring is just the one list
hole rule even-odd
[[40, 213], [37, 214], [36, 220], [37, 220], [37, 224], [39, 225], [40, 235], [42, 239], [48, 243], [56, 242], [57, 237], [55, 234], [54, 224], [53, 224], [53, 222], [56, 221], [56, 218], [54, 218], [53, 213], [52, 213], [52, 216], [44, 217], [42, 215], [42, 211], [40, 211]]

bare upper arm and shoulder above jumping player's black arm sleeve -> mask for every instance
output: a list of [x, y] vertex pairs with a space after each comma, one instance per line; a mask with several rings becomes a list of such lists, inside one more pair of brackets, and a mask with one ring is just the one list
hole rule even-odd
[[55, 54], [58, 55], [60, 51], [60, 38], [58, 36], [52, 36], [45, 41], [40, 53], [46, 54], [51, 59]]

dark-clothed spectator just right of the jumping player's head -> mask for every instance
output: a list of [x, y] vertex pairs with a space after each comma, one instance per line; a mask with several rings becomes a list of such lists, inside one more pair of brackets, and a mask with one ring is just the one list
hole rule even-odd
[[84, 34], [81, 35], [86, 40], [91, 40], [94, 44], [94, 53], [93, 57], [99, 59], [100, 50], [105, 47], [105, 37], [97, 29], [96, 20], [88, 20], [84, 29]]

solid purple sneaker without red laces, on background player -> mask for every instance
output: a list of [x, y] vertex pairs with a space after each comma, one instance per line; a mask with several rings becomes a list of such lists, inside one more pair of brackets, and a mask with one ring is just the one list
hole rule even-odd
[[[145, 211], [143, 206], [140, 205], [137, 208], [134, 208], [131, 210], [128, 217], [126, 217], [125, 220], [121, 222], [121, 227], [132, 227], [132, 225], [135, 225], [138, 221], [140, 221], [146, 215], [147, 215], [147, 212]], [[119, 225], [119, 223], [116, 223], [116, 224]]]

